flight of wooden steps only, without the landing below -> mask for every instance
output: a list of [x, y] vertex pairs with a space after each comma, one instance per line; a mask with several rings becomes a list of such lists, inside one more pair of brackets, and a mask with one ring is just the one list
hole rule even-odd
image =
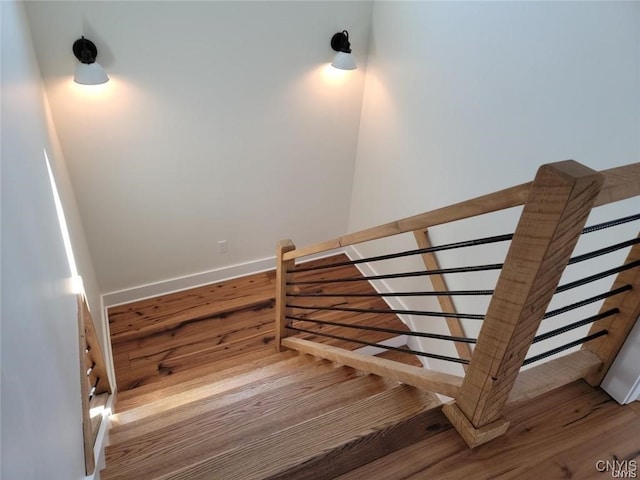
[[284, 352], [122, 402], [101, 478], [334, 478], [424, 438], [438, 404]]

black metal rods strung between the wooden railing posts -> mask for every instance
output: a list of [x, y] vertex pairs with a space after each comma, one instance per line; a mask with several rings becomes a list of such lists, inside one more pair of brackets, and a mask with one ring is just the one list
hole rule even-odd
[[[596, 225], [592, 225], [589, 227], [586, 227], [582, 230], [582, 234], [588, 234], [588, 233], [592, 233], [592, 232], [596, 232], [596, 231], [600, 231], [606, 228], [610, 228], [610, 227], [614, 227], [614, 226], [618, 226], [618, 225], [622, 225], [625, 223], [629, 223], [632, 221], [636, 221], [636, 220], [640, 220], [640, 214], [635, 214], [635, 215], [630, 215], [627, 217], [623, 217], [623, 218], [619, 218], [616, 220], [611, 220], [611, 221], [607, 221], [607, 222], [603, 222], [600, 224], [596, 224]], [[449, 244], [445, 244], [445, 245], [440, 245], [440, 246], [432, 246], [429, 248], [420, 248], [420, 249], [413, 249], [413, 250], [408, 250], [405, 252], [400, 252], [400, 253], [392, 253], [392, 254], [387, 254], [387, 255], [378, 255], [378, 256], [374, 256], [374, 257], [367, 257], [367, 258], [362, 258], [362, 259], [357, 259], [357, 260], [348, 260], [348, 261], [340, 261], [340, 262], [332, 262], [332, 263], [328, 263], [328, 264], [323, 264], [323, 265], [316, 265], [316, 266], [310, 266], [310, 267], [298, 267], [295, 269], [290, 270], [288, 273], [290, 274], [296, 274], [296, 273], [303, 273], [303, 272], [312, 272], [312, 271], [319, 271], [319, 270], [326, 270], [326, 269], [330, 269], [330, 268], [336, 268], [336, 267], [343, 267], [343, 266], [348, 266], [348, 265], [356, 265], [356, 264], [361, 264], [361, 263], [366, 263], [366, 262], [376, 262], [376, 261], [382, 261], [382, 260], [390, 260], [390, 259], [394, 259], [394, 258], [400, 258], [400, 257], [407, 257], [407, 256], [411, 256], [411, 255], [419, 255], [419, 254], [428, 254], [428, 253], [435, 253], [435, 252], [441, 252], [441, 251], [446, 251], [446, 250], [453, 250], [453, 249], [457, 249], [457, 248], [465, 248], [465, 247], [472, 247], [472, 246], [479, 246], [479, 245], [486, 245], [486, 244], [493, 244], [493, 243], [498, 243], [498, 242], [505, 242], [505, 241], [509, 241], [513, 238], [513, 234], [505, 234], [505, 235], [496, 235], [496, 236], [491, 236], [491, 237], [484, 237], [484, 238], [479, 238], [479, 239], [474, 239], [474, 240], [468, 240], [468, 241], [464, 241], [464, 242], [455, 242], [455, 243], [449, 243]], [[599, 256], [603, 256], [618, 250], [622, 250], [628, 247], [632, 247], [633, 245], [636, 245], [640, 243], [640, 238], [633, 238], [630, 240], [626, 240], [623, 242], [619, 242], [604, 248], [599, 248], [597, 250], [593, 250], [591, 252], [587, 252], [584, 254], [580, 254], [580, 255], [576, 255], [574, 257], [572, 257], [569, 262], [568, 265], [574, 265], [580, 262], [584, 262], [587, 260], [591, 260], [594, 259], [596, 257]], [[420, 271], [411, 271], [411, 272], [403, 272], [403, 273], [388, 273], [388, 274], [381, 274], [381, 275], [363, 275], [363, 276], [346, 276], [346, 277], [340, 277], [340, 278], [321, 278], [318, 280], [311, 280], [311, 279], [304, 279], [304, 280], [295, 280], [295, 279], [291, 279], [287, 282], [287, 285], [289, 286], [305, 286], [305, 285], [329, 285], [329, 284], [338, 284], [338, 283], [343, 283], [343, 282], [361, 282], [361, 281], [376, 281], [376, 280], [390, 280], [390, 279], [397, 279], [397, 278], [408, 278], [408, 277], [422, 277], [422, 276], [429, 276], [429, 275], [448, 275], [448, 274], [457, 274], [457, 273], [473, 273], [473, 272], [484, 272], [484, 271], [494, 271], [494, 270], [500, 270], [502, 268], [503, 264], [502, 263], [493, 263], [493, 264], [485, 264], [485, 265], [475, 265], [475, 266], [464, 266], [464, 267], [450, 267], [450, 268], [439, 268], [439, 269], [433, 269], [433, 270], [420, 270]], [[632, 269], [632, 268], [636, 268], [640, 266], [640, 260], [635, 260], [635, 261], [631, 261], [629, 263], [623, 264], [621, 266], [618, 266], [616, 268], [612, 268], [612, 269], [608, 269], [605, 270], [603, 272], [594, 274], [594, 275], [590, 275], [587, 276], [585, 278], [576, 280], [576, 281], [572, 281], [563, 285], [560, 285], [557, 289], [555, 293], [562, 293], [565, 292], [567, 290], [571, 290], [573, 288], [582, 286], [582, 285], [586, 285], [588, 283], [591, 282], [595, 282], [597, 280], [603, 279], [605, 277], [611, 276], [611, 275], [615, 275], [618, 274], [620, 272]], [[613, 289], [611, 291], [607, 291], [605, 293], [601, 293], [599, 295], [595, 295], [589, 298], [586, 298], [584, 300], [575, 302], [575, 303], [571, 303], [569, 305], [565, 305], [563, 307], [554, 309], [554, 310], [550, 310], [548, 311], [543, 319], [550, 319], [552, 317], [556, 317], [558, 315], [562, 315], [564, 313], [570, 312], [572, 310], [578, 309], [580, 307], [586, 306], [586, 305], [590, 305], [602, 300], [605, 300], [607, 298], [613, 297], [615, 295], [620, 295], [623, 294], [625, 292], [628, 292], [629, 290], [632, 289], [631, 285], [624, 285], [622, 287], [618, 287], [616, 289]], [[343, 323], [343, 322], [339, 322], [339, 321], [330, 321], [330, 320], [321, 320], [321, 319], [315, 319], [315, 318], [310, 318], [310, 316], [307, 316], [307, 314], [304, 314], [304, 316], [301, 315], [295, 315], [292, 314], [292, 310], [297, 309], [297, 310], [306, 310], [306, 311], [312, 311], [312, 312], [324, 312], [324, 311], [337, 311], [337, 312], [347, 312], [347, 313], [355, 313], [355, 314], [392, 314], [392, 315], [411, 315], [411, 316], [419, 316], [419, 317], [438, 317], [438, 318], [455, 318], [455, 319], [464, 319], [464, 320], [483, 320], [485, 318], [484, 314], [475, 314], [475, 313], [457, 313], [457, 312], [436, 312], [436, 311], [425, 311], [425, 310], [410, 310], [410, 309], [393, 309], [393, 308], [357, 308], [357, 307], [347, 307], [347, 306], [336, 306], [336, 305], [332, 305], [332, 306], [310, 306], [310, 305], [301, 305], [301, 304], [297, 304], [295, 303], [295, 298], [336, 298], [336, 297], [345, 297], [345, 298], [375, 298], [375, 297], [437, 297], [437, 296], [448, 296], [448, 297], [452, 297], [452, 296], [490, 296], [493, 295], [494, 291], [491, 289], [477, 289], [477, 290], [451, 290], [451, 291], [415, 291], [415, 292], [352, 292], [352, 291], [335, 291], [333, 289], [330, 289], [329, 291], [325, 291], [324, 288], [321, 291], [316, 291], [316, 292], [305, 292], [305, 291], [295, 291], [295, 292], [291, 292], [287, 294], [287, 298], [289, 298], [291, 301], [287, 303], [286, 307], [289, 309], [289, 314], [287, 315], [287, 319], [290, 321], [290, 324], [287, 326], [288, 329], [296, 331], [296, 332], [300, 332], [300, 333], [306, 333], [306, 334], [311, 334], [311, 335], [318, 335], [318, 336], [322, 336], [322, 337], [327, 337], [327, 338], [333, 338], [333, 339], [337, 339], [337, 340], [341, 340], [341, 341], [347, 341], [347, 342], [352, 342], [352, 343], [356, 343], [356, 344], [360, 344], [360, 345], [367, 345], [367, 346], [374, 346], [374, 347], [379, 347], [379, 348], [383, 348], [383, 349], [387, 349], [387, 350], [395, 350], [395, 351], [400, 351], [400, 352], [404, 352], [404, 353], [409, 353], [409, 354], [414, 354], [414, 355], [418, 355], [418, 356], [422, 356], [422, 357], [427, 357], [427, 358], [434, 358], [434, 359], [439, 359], [439, 360], [444, 360], [444, 361], [450, 361], [450, 362], [455, 362], [455, 363], [461, 363], [461, 364], [468, 364], [469, 360], [468, 359], [460, 359], [460, 358], [456, 358], [456, 357], [448, 357], [445, 355], [438, 355], [438, 354], [431, 354], [431, 353], [426, 353], [426, 352], [422, 352], [422, 351], [416, 351], [416, 350], [411, 350], [408, 348], [398, 348], [398, 347], [391, 347], [391, 346], [387, 346], [384, 344], [380, 344], [380, 343], [375, 343], [375, 342], [369, 342], [369, 341], [365, 341], [365, 340], [361, 340], [361, 339], [356, 339], [356, 338], [349, 338], [349, 337], [344, 337], [344, 336], [340, 336], [340, 335], [335, 335], [335, 334], [330, 334], [330, 333], [326, 333], [326, 332], [321, 332], [321, 331], [316, 331], [316, 330], [310, 330], [310, 329], [306, 329], [306, 328], [301, 328], [300, 326], [298, 326], [299, 322], [309, 322], [309, 323], [313, 323], [315, 325], [320, 325], [320, 326], [331, 326], [331, 327], [341, 327], [341, 328], [349, 328], [349, 329], [354, 329], [354, 330], [369, 330], [369, 331], [374, 331], [374, 332], [380, 332], [380, 333], [388, 333], [388, 334], [394, 334], [394, 335], [407, 335], [409, 337], [416, 337], [416, 338], [427, 338], [427, 339], [434, 339], [434, 340], [445, 340], [445, 341], [453, 341], [453, 342], [462, 342], [462, 343], [467, 343], [467, 344], [475, 344], [477, 342], [477, 339], [475, 338], [469, 338], [469, 337], [464, 337], [464, 336], [453, 336], [453, 335], [441, 335], [441, 334], [435, 334], [435, 333], [427, 333], [427, 332], [419, 332], [419, 331], [406, 331], [406, 330], [399, 330], [399, 329], [393, 329], [393, 328], [386, 328], [386, 327], [375, 327], [375, 326], [364, 326], [364, 325], [359, 325], [359, 324], [348, 324], [348, 323]], [[590, 317], [584, 318], [582, 320], [570, 323], [568, 325], [562, 326], [560, 328], [556, 328], [554, 330], [551, 330], [547, 333], [544, 334], [540, 334], [537, 335], [532, 343], [538, 343], [544, 340], [548, 340], [552, 337], [555, 337], [557, 335], [561, 335], [567, 332], [570, 332], [572, 330], [578, 329], [580, 327], [595, 323], [599, 320], [611, 317], [616, 315], [617, 313], [619, 313], [619, 310], [617, 308], [613, 308], [613, 309], [609, 309], [605, 312], [602, 313], [598, 313], [597, 315], [592, 315]], [[312, 315], [312, 313], [309, 313], [308, 315]], [[296, 325], [294, 325], [292, 322], [296, 322]], [[589, 342], [592, 341], [596, 338], [599, 338], [603, 335], [607, 334], [607, 330], [606, 329], [602, 329], [596, 333], [590, 334], [586, 337], [571, 341], [569, 343], [566, 343], [564, 345], [561, 345], [559, 347], [553, 348], [549, 351], [546, 351], [544, 353], [532, 356], [530, 358], [525, 359], [525, 361], [523, 362], [523, 365], [528, 365], [530, 363], [534, 363], [537, 362], [539, 360], [542, 360], [544, 358], [547, 358], [549, 356], [555, 355], [557, 353], [560, 353], [562, 351], [565, 351], [569, 348], [575, 347], [577, 345], [580, 345], [582, 343], [585, 342]]]

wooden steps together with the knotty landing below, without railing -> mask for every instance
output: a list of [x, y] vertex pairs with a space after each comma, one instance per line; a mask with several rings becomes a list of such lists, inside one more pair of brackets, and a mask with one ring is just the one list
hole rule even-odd
[[[438, 430], [429, 392], [277, 353], [272, 278], [109, 311], [120, 391], [103, 480], [335, 478]], [[394, 316], [380, 322], [406, 328]], [[394, 351], [381, 357], [420, 365]]]

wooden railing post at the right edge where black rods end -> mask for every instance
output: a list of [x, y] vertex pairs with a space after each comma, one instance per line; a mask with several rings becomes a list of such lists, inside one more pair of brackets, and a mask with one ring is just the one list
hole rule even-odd
[[[624, 264], [638, 260], [640, 260], [640, 244], [635, 244]], [[619, 313], [591, 325], [589, 334], [606, 329], [607, 335], [582, 345], [582, 348], [592, 351], [602, 361], [602, 367], [597, 372], [585, 377], [592, 386], [600, 385], [640, 316], [640, 268], [618, 273], [611, 289], [615, 290], [625, 285], [631, 285], [631, 290], [607, 298], [600, 308], [600, 313], [613, 308], [617, 308]]]

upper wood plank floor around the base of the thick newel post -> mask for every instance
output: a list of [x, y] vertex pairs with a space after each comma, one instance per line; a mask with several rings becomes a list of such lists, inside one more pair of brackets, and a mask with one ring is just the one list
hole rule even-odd
[[[538, 480], [612, 478], [598, 460], [640, 463], [640, 416], [577, 381], [508, 407], [507, 433], [473, 450], [452, 429], [398, 450], [339, 480]], [[446, 421], [445, 421], [446, 422]], [[446, 422], [448, 424], [448, 422]]]

